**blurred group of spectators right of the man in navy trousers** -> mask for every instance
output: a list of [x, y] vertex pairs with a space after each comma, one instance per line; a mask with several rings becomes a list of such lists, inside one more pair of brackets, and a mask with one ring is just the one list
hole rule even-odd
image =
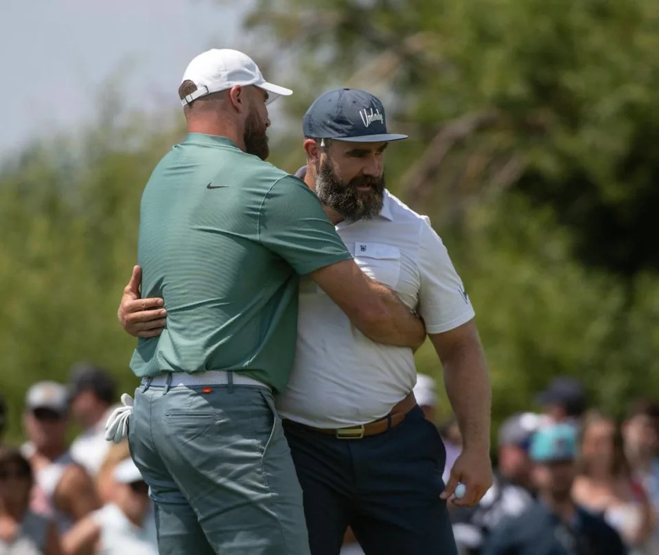
[[[415, 394], [434, 421], [434, 381], [419, 375]], [[459, 554], [659, 554], [659, 404], [635, 400], [619, 422], [588, 407], [579, 381], [559, 377], [537, 405], [498, 428], [494, 485], [481, 503], [450, 507]], [[446, 481], [461, 440], [455, 422], [439, 429]], [[361, 553], [347, 534], [342, 555]]]

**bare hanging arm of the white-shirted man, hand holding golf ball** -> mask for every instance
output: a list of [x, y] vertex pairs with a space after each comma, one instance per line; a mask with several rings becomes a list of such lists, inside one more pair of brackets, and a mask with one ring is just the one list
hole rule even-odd
[[442, 333], [430, 334], [444, 370], [446, 393], [463, 437], [463, 450], [451, 470], [442, 499], [448, 499], [458, 482], [467, 487], [458, 506], [474, 506], [492, 486], [489, 458], [489, 420], [492, 389], [485, 355], [474, 321]]

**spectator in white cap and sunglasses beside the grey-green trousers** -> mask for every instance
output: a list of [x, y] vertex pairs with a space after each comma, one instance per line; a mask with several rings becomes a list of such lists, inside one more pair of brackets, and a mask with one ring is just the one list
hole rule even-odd
[[158, 555], [149, 488], [128, 458], [113, 473], [113, 500], [71, 530], [65, 548], [69, 555]]

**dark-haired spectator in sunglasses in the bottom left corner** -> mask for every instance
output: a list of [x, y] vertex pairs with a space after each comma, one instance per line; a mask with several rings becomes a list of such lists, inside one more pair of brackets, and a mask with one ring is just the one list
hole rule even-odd
[[53, 524], [30, 510], [32, 468], [19, 449], [0, 447], [0, 553], [60, 555]]

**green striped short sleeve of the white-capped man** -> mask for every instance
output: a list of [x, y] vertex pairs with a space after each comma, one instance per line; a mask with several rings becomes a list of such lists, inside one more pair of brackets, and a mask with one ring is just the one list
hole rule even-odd
[[292, 176], [276, 181], [264, 196], [259, 241], [299, 275], [351, 258], [318, 197]]

